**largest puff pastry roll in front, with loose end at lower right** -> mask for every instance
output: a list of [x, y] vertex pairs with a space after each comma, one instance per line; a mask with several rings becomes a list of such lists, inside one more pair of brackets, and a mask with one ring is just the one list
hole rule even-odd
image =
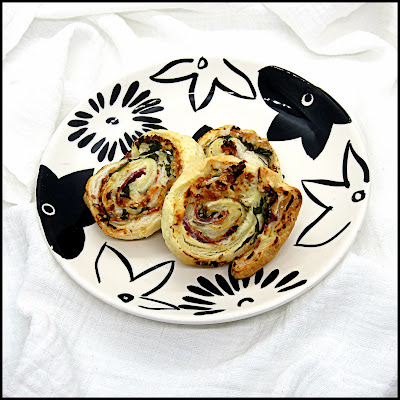
[[267, 167], [213, 156], [176, 180], [162, 210], [170, 251], [188, 265], [231, 263], [236, 279], [271, 261], [292, 231], [301, 193]]

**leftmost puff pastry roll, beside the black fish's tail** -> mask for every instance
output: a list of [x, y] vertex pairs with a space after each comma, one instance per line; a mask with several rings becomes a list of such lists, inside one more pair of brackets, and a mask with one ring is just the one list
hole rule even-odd
[[125, 240], [148, 237], [161, 227], [164, 199], [176, 178], [204, 158], [189, 136], [147, 132], [124, 158], [88, 180], [84, 201], [107, 235]]

